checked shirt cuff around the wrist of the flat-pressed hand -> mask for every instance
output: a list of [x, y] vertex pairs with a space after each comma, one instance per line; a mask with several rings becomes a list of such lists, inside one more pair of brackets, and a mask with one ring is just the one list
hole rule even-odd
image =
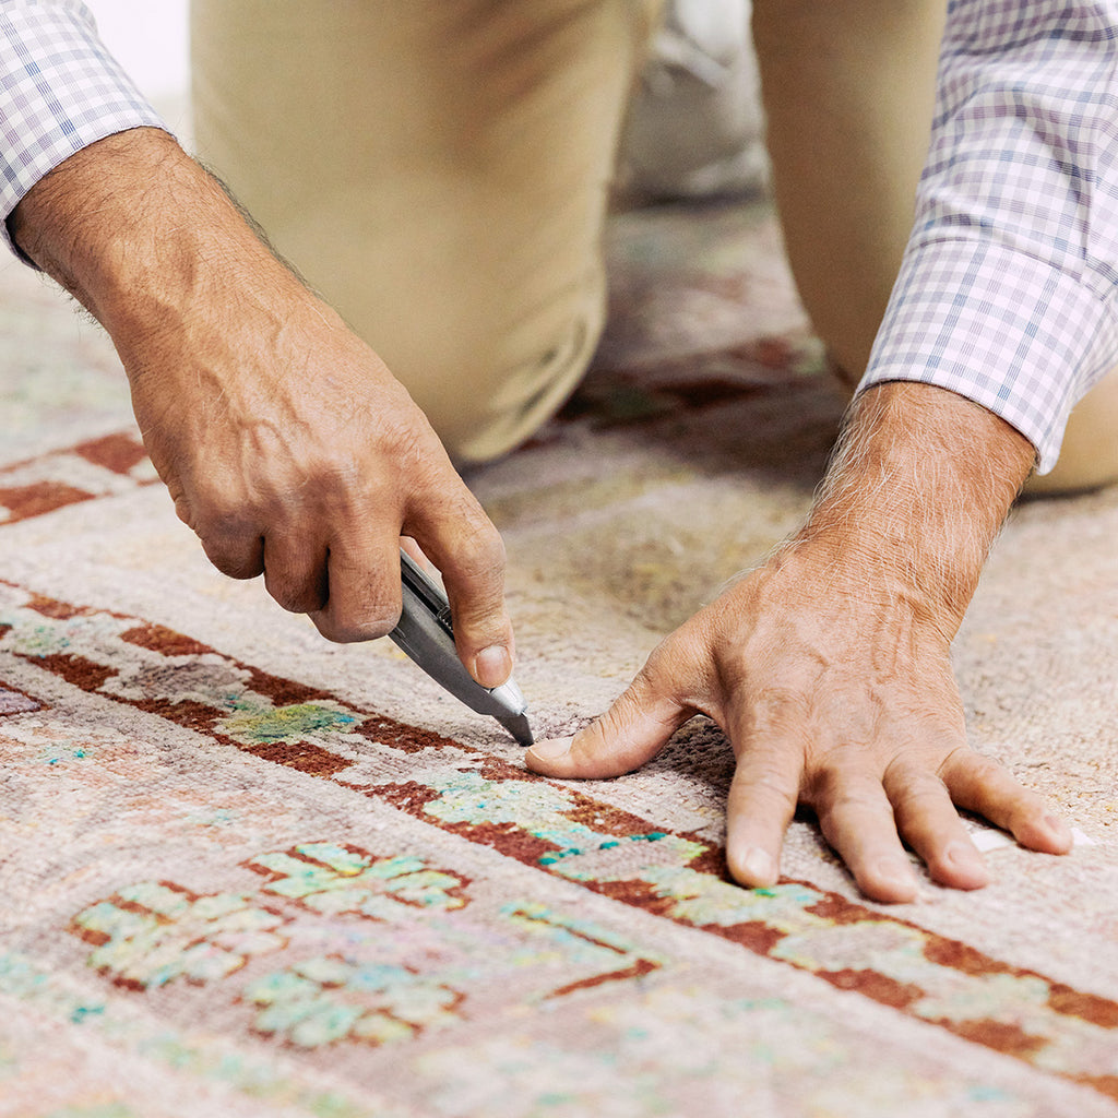
[[910, 244], [859, 389], [919, 381], [1015, 427], [1046, 473], [1076, 401], [1118, 356], [1112, 292], [996, 239]]

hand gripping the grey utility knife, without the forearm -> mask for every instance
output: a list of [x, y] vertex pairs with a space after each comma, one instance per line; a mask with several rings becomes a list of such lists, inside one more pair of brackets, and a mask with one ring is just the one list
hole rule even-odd
[[439, 568], [458, 653], [512, 670], [504, 548], [426, 417], [325, 305], [277, 275], [174, 329], [119, 342], [144, 443], [179, 517], [233, 578], [263, 572], [332, 641], [387, 634], [400, 537]]

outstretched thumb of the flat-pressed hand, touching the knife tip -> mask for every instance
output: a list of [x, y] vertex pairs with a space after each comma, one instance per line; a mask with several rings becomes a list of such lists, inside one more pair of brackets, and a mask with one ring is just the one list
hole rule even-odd
[[597, 721], [572, 738], [536, 742], [524, 761], [544, 776], [619, 776], [652, 760], [694, 713], [642, 673]]

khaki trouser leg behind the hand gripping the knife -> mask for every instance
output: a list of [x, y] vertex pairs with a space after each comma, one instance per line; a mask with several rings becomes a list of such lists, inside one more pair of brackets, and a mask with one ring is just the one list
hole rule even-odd
[[534, 430], [605, 313], [659, 0], [193, 0], [200, 155], [461, 461]]

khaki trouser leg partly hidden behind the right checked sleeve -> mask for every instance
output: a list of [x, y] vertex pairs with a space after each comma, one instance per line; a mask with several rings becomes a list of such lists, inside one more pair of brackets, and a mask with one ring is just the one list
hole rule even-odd
[[[816, 332], [855, 383], [912, 226], [944, 0], [755, 0], [754, 42], [788, 257]], [[1118, 370], [1077, 406], [1034, 491], [1118, 479]]]

